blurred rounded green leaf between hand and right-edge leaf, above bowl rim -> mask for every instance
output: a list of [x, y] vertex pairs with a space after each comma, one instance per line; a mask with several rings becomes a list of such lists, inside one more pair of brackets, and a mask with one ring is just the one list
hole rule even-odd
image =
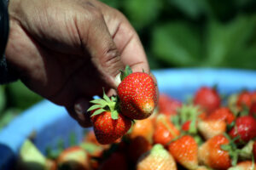
[[154, 29], [151, 49], [166, 65], [198, 65], [201, 39], [195, 26], [187, 22], [168, 22]]

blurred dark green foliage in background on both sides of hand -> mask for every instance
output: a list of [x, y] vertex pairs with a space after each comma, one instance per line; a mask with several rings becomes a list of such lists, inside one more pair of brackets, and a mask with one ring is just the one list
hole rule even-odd
[[[102, 0], [130, 20], [151, 69], [256, 69], [256, 0]], [[0, 86], [0, 128], [42, 98]]]

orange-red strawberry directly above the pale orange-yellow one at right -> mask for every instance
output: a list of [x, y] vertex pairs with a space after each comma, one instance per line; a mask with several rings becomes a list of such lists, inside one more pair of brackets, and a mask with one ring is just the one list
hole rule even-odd
[[219, 120], [228, 124], [233, 122], [235, 119], [236, 116], [227, 107], [218, 108], [216, 111], [213, 111], [209, 116], [207, 116], [207, 120]]

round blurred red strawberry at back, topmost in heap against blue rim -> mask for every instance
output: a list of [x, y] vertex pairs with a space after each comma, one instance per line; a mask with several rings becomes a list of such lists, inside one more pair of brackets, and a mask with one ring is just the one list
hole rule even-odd
[[221, 99], [215, 88], [201, 87], [195, 94], [194, 104], [209, 113], [221, 105]]

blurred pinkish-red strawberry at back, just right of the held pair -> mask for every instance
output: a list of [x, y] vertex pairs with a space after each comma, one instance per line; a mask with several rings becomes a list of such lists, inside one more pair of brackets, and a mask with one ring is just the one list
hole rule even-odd
[[177, 99], [172, 99], [167, 94], [160, 94], [158, 101], [159, 113], [169, 115], [176, 115], [177, 109], [182, 106], [182, 102]]

